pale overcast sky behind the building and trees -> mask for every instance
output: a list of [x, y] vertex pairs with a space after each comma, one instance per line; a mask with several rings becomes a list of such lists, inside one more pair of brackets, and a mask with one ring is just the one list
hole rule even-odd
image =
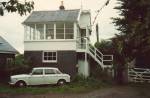
[[[1, 1], [1, 0], [0, 0]], [[24, 1], [24, 0], [21, 0]], [[28, 1], [28, 0], [27, 0]], [[37, 10], [58, 10], [61, 0], [33, 0], [35, 3], [35, 11]], [[106, 2], [106, 0], [82, 0], [83, 9], [91, 10], [92, 20], [96, 14], [96, 11]], [[100, 39], [111, 38], [117, 31], [112, 24], [111, 17], [117, 17], [117, 11], [113, 9], [116, 6], [117, 0], [110, 0], [108, 6], [106, 6], [99, 14], [97, 23], [100, 27]], [[81, 8], [81, 0], [64, 0], [64, 6], [66, 9], [79, 9]], [[29, 14], [28, 14], [29, 15]], [[12, 46], [14, 46], [19, 52], [24, 51], [24, 28], [21, 24], [27, 17], [20, 16], [16, 13], [6, 13], [4, 16], [0, 16], [0, 36], [5, 38]], [[95, 32], [92, 33], [91, 41], [96, 41]]]

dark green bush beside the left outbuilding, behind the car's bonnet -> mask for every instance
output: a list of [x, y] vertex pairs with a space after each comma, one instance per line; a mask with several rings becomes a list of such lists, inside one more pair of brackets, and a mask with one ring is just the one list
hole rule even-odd
[[17, 55], [15, 60], [10, 64], [0, 66], [0, 81], [8, 82], [9, 76], [28, 73], [30, 69], [28, 62], [24, 60], [24, 56]]

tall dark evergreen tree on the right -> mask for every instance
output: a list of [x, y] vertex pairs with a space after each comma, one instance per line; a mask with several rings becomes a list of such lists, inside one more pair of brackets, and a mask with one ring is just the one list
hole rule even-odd
[[120, 17], [113, 18], [113, 23], [120, 31], [114, 38], [115, 44], [121, 46], [120, 55], [129, 61], [150, 57], [150, 1], [118, 0], [118, 4], [115, 9], [119, 10]]

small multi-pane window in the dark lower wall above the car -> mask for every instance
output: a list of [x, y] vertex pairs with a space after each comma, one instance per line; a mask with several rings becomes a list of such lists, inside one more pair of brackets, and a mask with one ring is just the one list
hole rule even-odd
[[56, 51], [44, 51], [43, 62], [57, 62], [57, 52]]

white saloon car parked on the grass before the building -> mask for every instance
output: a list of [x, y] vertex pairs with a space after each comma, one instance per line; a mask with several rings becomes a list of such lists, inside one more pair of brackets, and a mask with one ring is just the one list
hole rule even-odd
[[63, 74], [58, 68], [37, 67], [30, 74], [14, 75], [10, 77], [10, 85], [23, 87], [27, 85], [58, 84], [70, 82], [70, 75]]

